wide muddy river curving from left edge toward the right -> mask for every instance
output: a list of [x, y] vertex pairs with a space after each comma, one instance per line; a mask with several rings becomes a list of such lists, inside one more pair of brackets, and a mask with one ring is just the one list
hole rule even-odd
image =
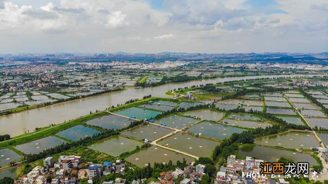
[[[116, 91], [110, 94], [102, 94], [98, 96], [58, 103], [42, 108], [31, 109], [19, 113], [13, 113], [0, 118], [0, 135], [10, 134], [16, 136], [27, 132], [31, 132], [37, 127], [45, 127], [50, 124], [64, 123], [64, 121], [72, 120], [81, 116], [85, 116], [90, 111], [104, 110], [106, 107], [117, 104], [124, 104], [130, 99], [142, 99], [146, 95], [153, 97], [168, 97], [165, 93], [171, 89], [179, 87], [189, 87], [192, 85], [200, 85], [207, 83], [217, 83], [225, 81], [235, 81], [242, 79], [262, 79], [276, 77], [298, 77], [304, 75], [268, 75], [268, 76], [247, 76], [247, 77], [229, 77], [215, 78], [207, 80], [190, 81], [184, 83], [168, 83], [148, 88], [127, 88], [126, 90]], [[308, 75], [306, 77], [311, 77]]]

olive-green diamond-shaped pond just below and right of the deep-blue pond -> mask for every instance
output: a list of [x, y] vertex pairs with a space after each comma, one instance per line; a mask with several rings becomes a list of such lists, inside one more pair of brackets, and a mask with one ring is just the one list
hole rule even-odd
[[143, 143], [139, 141], [114, 135], [108, 139], [98, 141], [97, 143], [89, 146], [89, 148], [112, 156], [119, 156], [121, 153], [132, 151], [136, 148], [136, 146], [141, 147], [142, 145]]

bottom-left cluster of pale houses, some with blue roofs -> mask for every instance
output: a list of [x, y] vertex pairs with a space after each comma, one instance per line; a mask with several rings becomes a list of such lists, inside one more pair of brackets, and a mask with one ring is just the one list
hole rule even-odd
[[[52, 176], [51, 184], [75, 184], [80, 179], [87, 179], [92, 183], [92, 178], [95, 176], [108, 175], [110, 173], [125, 173], [125, 162], [116, 160], [113, 162], [105, 162], [103, 164], [83, 163], [80, 156], [61, 155], [57, 162], [54, 162], [53, 157], [44, 159], [44, 166], [36, 166], [28, 174], [21, 176], [17, 183], [19, 184], [46, 184], [49, 183], [47, 178]], [[116, 178], [115, 181], [108, 183], [126, 183], [125, 179]]]

